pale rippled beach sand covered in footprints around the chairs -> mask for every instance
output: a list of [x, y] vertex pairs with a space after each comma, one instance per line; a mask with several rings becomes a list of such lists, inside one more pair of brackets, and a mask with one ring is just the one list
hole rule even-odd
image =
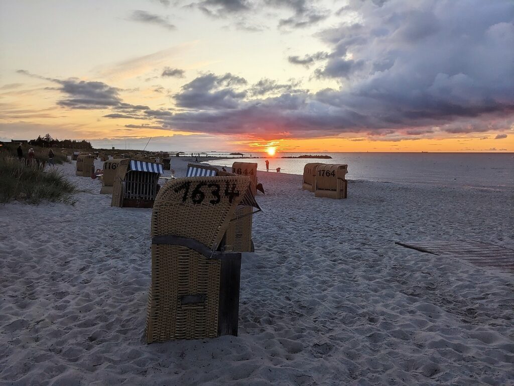
[[260, 172], [240, 335], [147, 345], [151, 209], [112, 208], [74, 168], [75, 206], [0, 206], [2, 385], [514, 384], [514, 279], [394, 244], [512, 247], [507, 192], [355, 182], [331, 200]]

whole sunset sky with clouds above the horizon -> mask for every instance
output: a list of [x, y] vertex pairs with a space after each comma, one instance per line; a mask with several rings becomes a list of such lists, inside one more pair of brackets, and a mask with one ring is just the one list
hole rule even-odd
[[2, 0], [0, 141], [514, 151], [512, 0]]

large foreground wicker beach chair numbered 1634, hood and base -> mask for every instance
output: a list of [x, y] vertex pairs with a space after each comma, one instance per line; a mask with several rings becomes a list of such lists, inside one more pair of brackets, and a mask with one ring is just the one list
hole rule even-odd
[[152, 283], [146, 342], [237, 335], [241, 253], [220, 251], [250, 181], [180, 178], [152, 213]]

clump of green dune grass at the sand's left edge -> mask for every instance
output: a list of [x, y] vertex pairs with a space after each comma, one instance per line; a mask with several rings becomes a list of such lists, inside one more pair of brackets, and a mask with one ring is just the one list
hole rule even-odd
[[12, 200], [39, 204], [42, 201], [74, 205], [75, 185], [57, 169], [44, 171], [26, 165], [7, 151], [0, 151], [0, 203]]

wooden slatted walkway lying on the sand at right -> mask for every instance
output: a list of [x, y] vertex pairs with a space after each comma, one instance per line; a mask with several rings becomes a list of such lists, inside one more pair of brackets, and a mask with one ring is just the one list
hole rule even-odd
[[396, 242], [405, 248], [459, 260], [480, 269], [514, 276], [514, 249], [481, 241]]

